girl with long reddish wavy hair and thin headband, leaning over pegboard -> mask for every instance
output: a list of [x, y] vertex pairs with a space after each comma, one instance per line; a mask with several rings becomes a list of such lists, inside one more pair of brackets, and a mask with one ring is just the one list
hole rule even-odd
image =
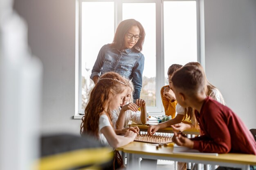
[[111, 111], [117, 109], [127, 93], [127, 83], [115, 72], [108, 72], [99, 78], [92, 89], [80, 133], [91, 134], [101, 143], [118, 148], [132, 142], [136, 132], [126, 130], [125, 136], [116, 134], [111, 123]]

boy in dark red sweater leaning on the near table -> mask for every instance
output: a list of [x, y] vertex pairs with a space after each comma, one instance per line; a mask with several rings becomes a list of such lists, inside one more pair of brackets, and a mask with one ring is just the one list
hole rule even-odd
[[193, 139], [175, 133], [173, 142], [200, 152], [256, 155], [256, 142], [241, 119], [204, 92], [204, 76], [195, 66], [184, 66], [172, 77], [172, 89], [182, 107], [193, 107], [200, 136]]

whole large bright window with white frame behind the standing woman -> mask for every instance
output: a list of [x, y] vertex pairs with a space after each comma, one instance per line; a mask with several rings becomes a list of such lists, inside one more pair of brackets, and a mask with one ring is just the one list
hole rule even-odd
[[160, 89], [167, 81], [171, 64], [199, 61], [198, 3], [196, 0], [77, 0], [78, 102], [84, 113], [94, 87], [90, 74], [100, 48], [111, 43], [122, 20], [134, 18], [143, 25], [146, 37], [141, 98], [147, 111], [164, 114]]

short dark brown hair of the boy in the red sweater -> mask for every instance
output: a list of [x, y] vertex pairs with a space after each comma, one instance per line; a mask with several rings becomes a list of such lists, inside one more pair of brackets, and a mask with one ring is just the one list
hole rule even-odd
[[171, 81], [175, 88], [181, 89], [187, 95], [194, 96], [204, 92], [204, 76], [194, 65], [183, 66], [173, 74]]

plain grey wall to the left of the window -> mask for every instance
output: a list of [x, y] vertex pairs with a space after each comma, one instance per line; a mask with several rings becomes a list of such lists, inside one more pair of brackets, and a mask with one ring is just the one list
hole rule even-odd
[[43, 131], [78, 134], [81, 120], [72, 119], [75, 0], [16, 0], [14, 8], [27, 20], [29, 46], [43, 62]]

